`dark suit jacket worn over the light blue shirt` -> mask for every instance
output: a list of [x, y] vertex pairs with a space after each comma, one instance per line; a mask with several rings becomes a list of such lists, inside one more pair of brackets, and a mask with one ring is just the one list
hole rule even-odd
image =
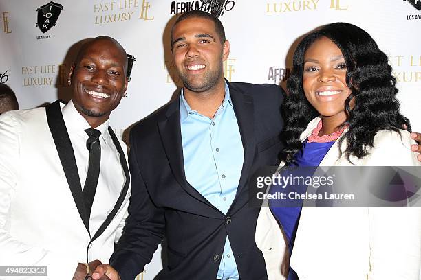
[[240, 279], [268, 278], [263, 255], [255, 244], [259, 207], [249, 204], [248, 180], [259, 167], [279, 164], [284, 95], [272, 84], [228, 86], [244, 147], [244, 164], [235, 200], [226, 215], [186, 181], [179, 98], [131, 130], [129, 218], [110, 261], [122, 280], [133, 280], [143, 270], [164, 236], [168, 266], [160, 279], [215, 280], [227, 235]]

